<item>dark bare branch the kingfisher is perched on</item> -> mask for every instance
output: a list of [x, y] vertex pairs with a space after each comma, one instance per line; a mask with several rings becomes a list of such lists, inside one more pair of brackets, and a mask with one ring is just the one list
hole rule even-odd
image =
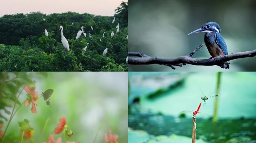
[[[191, 53], [174, 58], [165, 58], [165, 57], [150, 57], [149, 55], [144, 54], [143, 52], [128, 52], [128, 64], [160, 64], [169, 66], [172, 69], [175, 69], [174, 66], [182, 66], [186, 64], [192, 64], [197, 66], [220, 66], [225, 61], [234, 60], [237, 58], [246, 58], [246, 57], [254, 57], [256, 55], [256, 50], [245, 51], [245, 52], [237, 52], [234, 54], [229, 54], [225, 56], [218, 56], [212, 59], [197, 59], [192, 58], [192, 56], [203, 46], [203, 44], [199, 45], [194, 51]], [[135, 56], [135, 57], [130, 57]]]

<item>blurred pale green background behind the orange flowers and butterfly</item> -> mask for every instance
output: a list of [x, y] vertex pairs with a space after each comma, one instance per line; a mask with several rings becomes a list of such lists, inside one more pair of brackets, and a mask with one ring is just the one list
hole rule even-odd
[[[38, 142], [45, 122], [49, 122], [43, 134], [47, 141], [49, 134], [57, 127], [59, 119], [67, 119], [67, 125], [73, 136], [66, 139], [80, 143], [92, 143], [101, 126], [95, 143], [104, 142], [104, 134], [112, 130], [118, 134], [118, 142], [127, 142], [127, 74], [126, 72], [48, 72], [45, 79], [28, 73], [36, 81], [36, 91], [54, 89], [50, 98], [51, 107], [43, 98], [37, 101], [37, 114], [32, 114], [29, 107], [22, 106], [13, 118], [7, 130], [7, 137], [19, 136], [18, 121], [28, 119], [34, 128], [33, 139]], [[41, 78], [42, 77], [42, 78]], [[26, 98], [25, 91], [19, 101]], [[6, 117], [9, 117], [6, 115]], [[4, 122], [4, 128], [6, 127]], [[54, 135], [55, 139], [60, 136]]]

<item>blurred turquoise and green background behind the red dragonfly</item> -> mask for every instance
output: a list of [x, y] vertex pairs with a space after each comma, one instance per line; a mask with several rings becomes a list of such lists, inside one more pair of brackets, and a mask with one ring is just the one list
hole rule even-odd
[[[256, 142], [256, 73], [223, 72], [219, 97], [216, 72], [129, 72], [129, 143], [188, 143], [192, 140], [192, 112], [196, 142]], [[214, 122], [214, 107], [217, 121]], [[184, 110], [192, 112], [182, 112]]]

